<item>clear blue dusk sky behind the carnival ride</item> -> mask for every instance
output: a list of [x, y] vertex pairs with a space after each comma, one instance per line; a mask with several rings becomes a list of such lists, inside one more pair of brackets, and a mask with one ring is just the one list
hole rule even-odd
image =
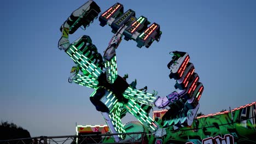
[[[67, 81], [72, 59], [57, 48], [62, 23], [86, 1], [3, 1], [1, 4], [0, 119], [24, 127], [31, 136], [75, 134], [78, 124], [104, 124], [90, 103], [92, 89]], [[256, 100], [255, 1], [95, 1], [102, 12], [116, 2], [136, 16], [159, 23], [162, 37], [147, 49], [123, 40], [117, 49], [118, 73], [137, 79], [160, 96], [174, 91], [168, 78], [170, 51], [186, 51], [205, 91], [202, 113]], [[71, 41], [90, 35], [99, 52], [112, 37], [110, 27], [95, 20], [78, 29]], [[135, 120], [132, 116], [124, 123]]]

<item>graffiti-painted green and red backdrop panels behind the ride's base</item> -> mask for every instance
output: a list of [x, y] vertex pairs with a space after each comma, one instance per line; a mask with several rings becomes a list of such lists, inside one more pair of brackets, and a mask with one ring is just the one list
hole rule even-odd
[[[154, 111], [157, 122], [162, 121], [166, 110]], [[104, 128], [104, 129], [103, 129]], [[77, 135], [85, 133], [107, 133], [107, 125], [78, 125]], [[85, 132], [86, 131], [86, 132]], [[166, 129], [167, 135], [154, 137], [147, 135], [146, 143], [256, 143], [256, 102], [210, 115], [196, 117], [193, 124], [179, 130]], [[142, 131], [146, 132], [147, 131]], [[103, 143], [114, 142], [104, 139]]]

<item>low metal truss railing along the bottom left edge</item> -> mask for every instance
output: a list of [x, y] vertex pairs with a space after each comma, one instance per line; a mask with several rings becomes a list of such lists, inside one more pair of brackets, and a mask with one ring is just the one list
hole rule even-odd
[[[114, 141], [114, 135], [124, 135], [125, 140]], [[0, 140], [0, 144], [84, 144], [84, 143], [146, 143], [146, 133], [85, 134], [66, 136], [38, 136], [24, 139]]]

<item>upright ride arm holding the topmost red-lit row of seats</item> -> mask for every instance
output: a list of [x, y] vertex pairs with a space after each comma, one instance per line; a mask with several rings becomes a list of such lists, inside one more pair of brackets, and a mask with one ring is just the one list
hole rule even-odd
[[116, 3], [104, 11], [99, 20], [101, 26], [109, 25], [114, 33], [103, 56], [107, 81], [114, 83], [118, 75], [115, 49], [119, 46], [121, 37], [125, 35], [125, 40], [135, 40], [138, 43], [138, 47], [142, 47], [143, 45], [149, 47], [154, 40], [159, 41], [161, 35], [160, 26], [153, 23], [148, 28], [147, 25], [149, 22], [146, 17], [141, 16], [137, 19], [135, 17], [135, 11], [131, 9], [124, 13], [124, 7], [120, 3]]

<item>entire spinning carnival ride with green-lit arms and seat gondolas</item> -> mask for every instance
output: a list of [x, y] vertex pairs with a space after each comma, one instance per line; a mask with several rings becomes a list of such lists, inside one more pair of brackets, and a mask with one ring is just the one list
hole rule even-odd
[[[64, 50], [75, 63], [68, 81], [95, 89], [90, 101], [102, 113], [112, 133], [126, 133], [121, 118], [127, 112], [135, 116], [155, 137], [166, 135], [166, 128], [176, 130], [190, 126], [199, 109], [203, 85], [199, 82], [193, 63], [189, 62], [188, 53], [170, 52], [172, 58], [167, 67], [171, 70], [170, 79], [176, 80], [174, 92], [160, 97], [155, 91], [148, 93], [147, 87], [136, 89], [136, 81], [129, 84], [126, 82], [128, 75], [118, 75], [116, 50], [123, 36], [127, 41], [136, 41], [139, 48], [150, 47], [161, 38], [160, 25], [155, 22], [150, 25], [147, 17], [137, 18], [135, 11], [129, 9], [124, 12], [124, 6], [116, 3], [98, 19], [101, 26], [109, 25], [114, 33], [103, 57], [88, 35], [69, 43], [69, 34], [79, 27], [88, 27], [100, 12], [100, 7], [94, 1], [88, 1], [74, 10], [60, 27], [62, 36], [59, 49]], [[152, 107], [167, 109], [161, 122], [149, 116]], [[126, 140], [125, 135], [115, 135], [114, 139], [115, 142]]]

